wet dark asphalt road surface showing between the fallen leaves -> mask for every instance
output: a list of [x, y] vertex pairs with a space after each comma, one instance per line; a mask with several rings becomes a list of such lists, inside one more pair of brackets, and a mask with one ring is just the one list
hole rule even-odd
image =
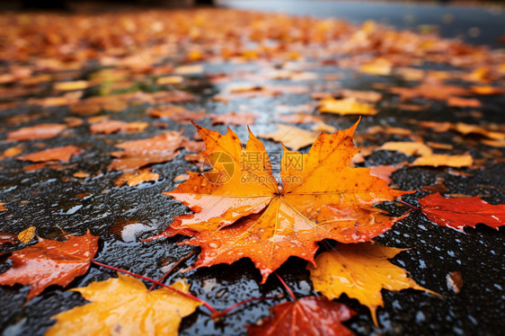
[[[244, 4], [242, 4], [244, 6]], [[280, 4], [251, 3], [255, 9], [270, 10], [272, 6]], [[289, 13], [297, 14], [324, 14], [339, 16], [342, 14], [350, 21], [368, 19], [368, 14], [357, 11], [357, 7], [346, 7], [343, 11], [341, 4], [332, 4], [332, 12], [323, 8], [323, 4], [316, 3], [305, 7], [298, 4], [283, 6]], [[329, 4], [324, 4], [327, 6]], [[377, 8], [385, 4], [377, 4]], [[343, 5], [342, 5], [343, 6]], [[300, 9], [302, 8], [302, 9]], [[305, 8], [305, 9], [304, 9]], [[389, 22], [401, 26], [406, 13], [416, 13], [418, 22], [439, 22], [440, 18], [447, 13], [446, 8], [426, 9], [423, 12], [419, 7], [410, 5], [397, 5], [383, 8], [385, 13], [391, 13], [394, 8], [394, 17], [389, 16]], [[437, 13], [434, 15], [433, 11]], [[503, 32], [503, 25], [496, 26], [494, 19], [503, 18], [503, 14], [478, 14], [467, 13], [466, 9], [451, 9], [455, 14], [455, 24], [459, 28], [442, 27], [442, 34], [455, 36], [458, 31], [465, 32], [468, 27], [478, 26], [483, 33], [480, 40], [469, 40], [476, 43], [494, 43], [496, 31]], [[350, 13], [356, 13], [353, 17]], [[373, 18], [385, 16], [377, 9]], [[339, 13], [339, 15], [336, 15]], [[345, 15], [343, 14], [345, 13]], [[466, 13], [465, 15], [463, 13]], [[486, 12], [488, 13], [488, 12]], [[501, 15], [501, 16], [500, 16]], [[464, 19], [467, 18], [467, 19]], [[431, 21], [429, 21], [430, 19]], [[466, 21], [465, 21], [466, 20]], [[501, 21], [503, 24], [503, 21]], [[494, 31], [488, 34], [488, 29]], [[492, 37], [490, 37], [492, 34]], [[230, 68], [213, 68], [213, 71]], [[331, 71], [331, 70], [330, 70]], [[367, 90], [370, 85], [377, 81], [377, 77], [359, 75], [358, 77], [344, 80], [345, 87]], [[217, 90], [208, 84], [210, 90]], [[201, 93], [201, 88], [195, 89]], [[392, 100], [386, 96], [385, 100]], [[268, 107], [281, 100], [285, 103], [286, 98], [268, 97], [254, 101], [255, 108], [265, 111], [264, 116], [258, 120], [253, 131], [258, 133], [271, 128], [271, 122], [267, 118]], [[298, 104], [309, 101], [309, 98], [292, 98], [289, 103]], [[233, 111], [239, 104], [247, 104], [248, 101], [237, 101], [226, 107], [226, 111]], [[210, 102], [202, 95], [198, 106], [205, 107], [209, 112], [225, 112], [222, 105]], [[492, 98], [485, 101], [483, 108], [483, 120], [504, 123], [502, 111], [505, 109], [503, 97]], [[145, 113], [145, 107], [135, 106], [121, 112], [120, 118], [124, 120], [149, 120]], [[1, 111], [0, 117], [6, 118], [15, 114], [21, 114], [22, 110]], [[42, 116], [22, 126], [38, 124], [41, 122], [63, 122], [69, 115], [66, 108], [51, 108], [41, 111]], [[324, 116], [327, 123], [337, 128], [349, 127], [356, 118]], [[465, 121], [475, 123], [471, 117], [461, 117], [443, 104], [435, 105], [431, 111], [420, 115], [416, 112], [397, 111], [387, 108], [377, 116], [364, 118], [359, 126], [358, 134], [364, 132], [369, 126], [377, 124], [392, 127], [412, 128], [419, 131], [410, 119], [431, 119], [438, 121]], [[200, 124], [204, 127], [224, 131], [225, 126], [211, 126], [208, 119]], [[179, 129], [180, 125], [170, 125], [167, 129]], [[247, 135], [246, 128], [235, 127], [241, 138]], [[156, 128], [148, 128], [147, 132], [155, 133]], [[185, 127], [185, 134], [193, 134], [190, 126]], [[4, 135], [1, 135], [2, 139]], [[108, 155], [113, 151], [115, 142], [124, 139], [134, 139], [137, 135], [116, 134], [111, 136], [93, 136], [87, 126], [77, 127], [73, 137], [57, 137], [45, 141], [48, 146], [78, 145], [87, 146], [84, 155], [75, 157], [72, 163], [75, 167], [65, 172], [71, 176], [73, 172], [84, 170], [85, 172], [102, 172], [97, 177], [86, 181], [73, 179], [62, 181], [62, 172], [42, 169], [36, 172], [22, 172], [22, 164], [15, 159], [6, 159], [2, 162], [0, 170], [0, 189], [2, 201], [6, 201], [10, 210], [0, 214], [1, 230], [4, 232], [20, 232], [30, 225], [38, 227], [38, 234], [44, 237], [57, 237], [59, 230], [56, 225], [67, 232], [84, 234], [91, 228], [93, 234], [101, 236], [101, 248], [97, 260], [120, 268], [135, 271], [151, 278], [159, 278], [163, 275], [160, 268], [171, 261], [182, 258], [190, 252], [189, 246], [176, 244], [180, 238], [170, 238], [151, 243], [141, 243], [140, 238], [160, 232], [170, 223], [170, 218], [186, 211], [182, 204], [167, 199], [161, 192], [173, 190], [173, 178], [181, 174], [184, 169], [195, 171], [194, 165], [184, 161], [182, 155], [173, 162], [155, 164], [153, 172], [162, 176], [155, 183], [144, 183], [136, 188], [114, 187], [113, 181], [119, 176], [118, 172], [108, 172], [106, 167], [111, 162]], [[394, 140], [394, 136], [379, 138], [380, 141]], [[423, 137], [425, 142], [449, 143], [455, 146], [455, 151], [465, 152], [469, 150], [465, 144], [455, 141], [455, 134], [432, 133]], [[35, 141], [26, 142], [27, 153], [35, 150]], [[269, 151], [279, 150], [279, 144], [264, 141]], [[0, 151], [9, 145], [0, 143]], [[475, 158], [481, 157], [481, 153], [488, 148], [482, 145], [472, 147], [471, 153]], [[503, 150], [502, 150], [503, 152]], [[408, 159], [407, 156], [394, 152], [377, 152], [368, 157], [366, 165], [394, 164]], [[485, 199], [493, 204], [505, 203], [505, 164], [486, 164], [484, 169], [463, 169], [472, 174], [470, 177], [456, 176], [448, 173], [443, 168], [407, 168], [394, 172], [393, 182], [401, 190], [420, 190], [422, 186], [434, 184], [437, 178], [445, 179], [447, 188], [452, 193], [464, 193], [471, 195], [488, 195]], [[89, 197], [77, 199], [75, 195], [89, 193]], [[417, 205], [418, 198], [427, 195], [426, 192], [418, 192], [408, 195], [404, 199], [413, 205]], [[393, 204], [384, 206], [392, 214], [399, 215], [404, 208]], [[130, 226], [127, 231], [123, 230], [131, 221], [137, 225]], [[346, 297], [342, 303], [350, 305], [359, 315], [345, 323], [353, 332], [360, 335], [388, 334], [388, 335], [500, 335], [505, 328], [505, 265], [503, 254], [505, 247], [505, 235], [503, 228], [495, 231], [489, 227], [478, 225], [476, 229], [467, 229], [461, 234], [446, 227], [434, 225], [419, 212], [413, 212], [410, 217], [394, 225], [387, 233], [377, 237], [377, 242], [394, 247], [410, 248], [409, 251], [400, 253], [394, 258], [394, 264], [408, 270], [413, 279], [421, 286], [430, 288], [445, 298], [431, 296], [430, 294], [405, 290], [402, 292], [383, 291], [385, 307], [378, 309], [378, 321], [383, 326], [377, 330], [371, 323], [368, 308], [359, 305], [355, 300]], [[8, 251], [4, 250], [5, 252]], [[189, 266], [195, 257], [186, 261]], [[0, 259], [0, 271], [7, 270], [8, 261]], [[279, 274], [287, 280], [297, 296], [316, 295], [312, 288], [308, 272], [305, 270], [306, 262], [290, 259], [280, 270]], [[459, 294], [455, 294], [447, 287], [446, 277], [451, 271], [461, 272], [465, 285]], [[70, 287], [83, 287], [93, 281], [108, 279], [114, 272], [99, 269], [92, 266], [91, 270], [83, 277], [75, 279]], [[218, 309], [226, 308], [246, 298], [255, 296], [278, 296], [283, 293], [276, 279], [269, 279], [264, 286], [260, 286], [260, 274], [254, 269], [251, 261], [243, 260], [235, 262], [231, 266], [219, 265], [210, 269], [190, 271], [183, 275], [190, 279], [191, 292], [196, 296], [208, 300]], [[167, 282], [173, 279], [181, 279], [182, 275], [175, 273]], [[76, 305], [83, 305], [84, 299], [77, 293], [63, 290], [60, 287], [50, 287], [44, 293], [33, 299], [28, 305], [24, 305], [24, 297], [27, 287], [0, 287], [0, 331], [4, 335], [41, 335], [53, 323], [50, 316], [70, 309]], [[244, 325], [255, 323], [259, 318], [269, 314], [271, 305], [286, 301], [287, 298], [261, 301], [252, 305], [246, 305], [230, 314], [222, 322], [214, 322], [208, 318], [202, 310], [185, 318], [182, 322], [182, 335], [237, 335], [244, 334]]]

